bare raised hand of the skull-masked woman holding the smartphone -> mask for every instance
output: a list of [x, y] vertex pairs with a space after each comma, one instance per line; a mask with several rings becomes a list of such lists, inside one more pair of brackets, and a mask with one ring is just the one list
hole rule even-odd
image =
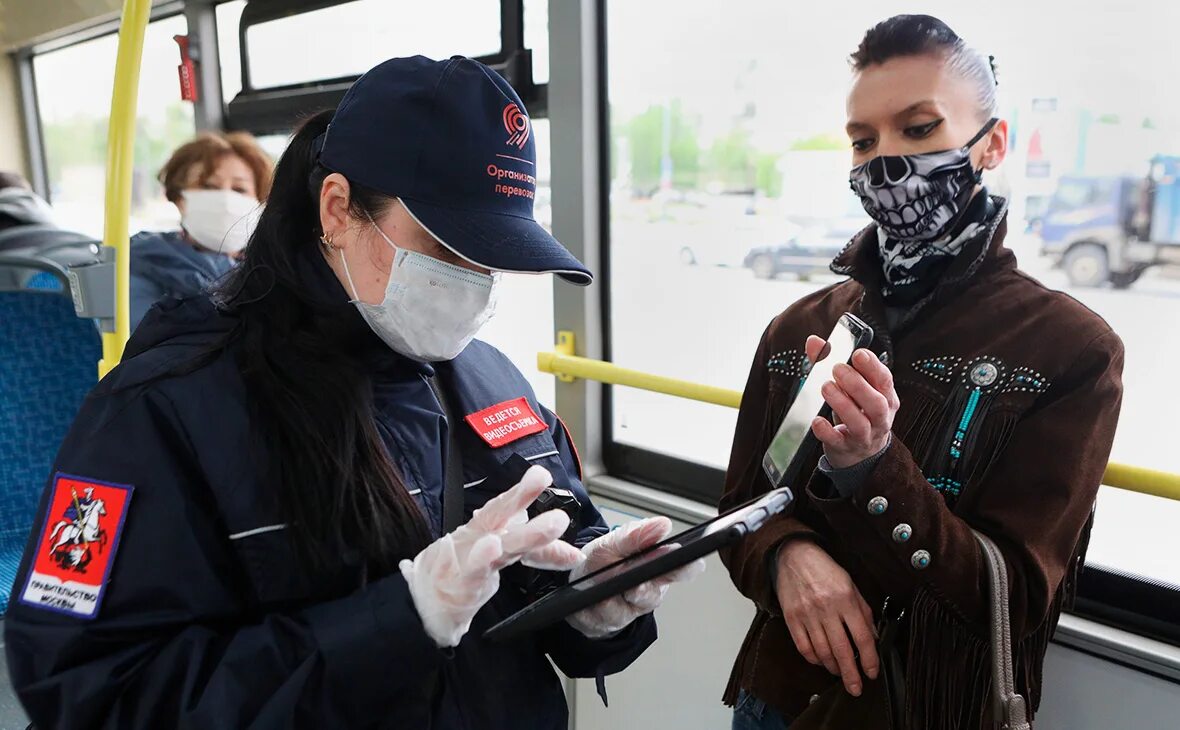
[[[818, 362], [827, 348], [821, 337], [807, 338], [812, 362]], [[835, 364], [832, 377], [820, 386], [820, 394], [832, 417], [817, 416], [812, 433], [834, 468], [856, 466], [889, 446], [902, 401], [893, 387], [893, 374], [874, 353], [858, 349], [847, 363]]]

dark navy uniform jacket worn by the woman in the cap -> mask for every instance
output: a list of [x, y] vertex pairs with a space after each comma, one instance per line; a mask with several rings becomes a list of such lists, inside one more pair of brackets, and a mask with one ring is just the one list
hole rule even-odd
[[[655, 640], [644, 617], [604, 640], [562, 623], [518, 643], [484, 642], [485, 629], [525, 605], [505, 580], [459, 646], [440, 651], [400, 573], [366, 577], [342, 557], [334, 574], [309, 578], [247, 448], [257, 434], [232, 347], [195, 371], [151, 380], [230, 325], [206, 298], [165, 301], [61, 447], [55, 473], [135, 491], [92, 619], [20, 600], [53, 482], [41, 500], [5, 620], [13, 684], [39, 728], [564, 730], [550, 658], [566, 675], [602, 677]], [[372, 350], [381, 435], [438, 534], [447, 422], [426, 380], [432, 367]], [[577, 494], [581, 542], [605, 532], [564, 426], [504, 355], [474, 342], [439, 374], [460, 414], [523, 396], [544, 425], [492, 448], [458, 423], [468, 513], [494, 491], [480, 480], [519, 454]]]

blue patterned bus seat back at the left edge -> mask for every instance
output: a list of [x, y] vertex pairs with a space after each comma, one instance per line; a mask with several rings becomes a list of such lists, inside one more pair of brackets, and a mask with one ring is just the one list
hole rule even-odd
[[0, 291], [0, 613], [53, 459], [98, 381], [101, 340], [68, 295]]

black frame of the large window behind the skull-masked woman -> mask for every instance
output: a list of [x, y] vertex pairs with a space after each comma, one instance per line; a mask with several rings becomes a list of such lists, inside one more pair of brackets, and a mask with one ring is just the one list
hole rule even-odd
[[[610, 127], [605, 120], [610, 110], [608, 77], [610, 61], [607, 45], [607, 5], [610, 0], [595, 0], [595, 2], [597, 6], [599, 129], [605, 136], [609, 136]], [[599, 136], [598, 152], [598, 225], [602, 231], [599, 238], [602, 248], [599, 281], [603, 287], [599, 313], [602, 317], [602, 349], [604, 360], [612, 361], [609, 137]], [[615, 386], [608, 384], [602, 387], [601, 443], [607, 475], [715, 506], [725, 484], [722, 469], [615, 440], [614, 388]], [[1100, 624], [1180, 646], [1180, 624], [1176, 624], [1174, 619], [1174, 617], [1180, 616], [1180, 586], [1153, 581], [1145, 577], [1096, 565], [1084, 566], [1077, 579], [1076, 600], [1069, 612]]]

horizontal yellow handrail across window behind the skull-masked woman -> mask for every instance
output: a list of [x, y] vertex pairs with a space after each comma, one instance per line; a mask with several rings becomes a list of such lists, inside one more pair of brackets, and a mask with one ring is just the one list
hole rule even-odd
[[[537, 354], [537, 368], [542, 373], [557, 375], [566, 381], [583, 377], [728, 408], [736, 408], [741, 403], [740, 390], [702, 386], [687, 380], [621, 368], [612, 362], [578, 357], [571, 353], [572, 341], [572, 336], [563, 333], [558, 351]], [[1110, 463], [1107, 466], [1102, 484], [1127, 492], [1180, 500], [1180, 474], [1169, 474], [1126, 463]]]

